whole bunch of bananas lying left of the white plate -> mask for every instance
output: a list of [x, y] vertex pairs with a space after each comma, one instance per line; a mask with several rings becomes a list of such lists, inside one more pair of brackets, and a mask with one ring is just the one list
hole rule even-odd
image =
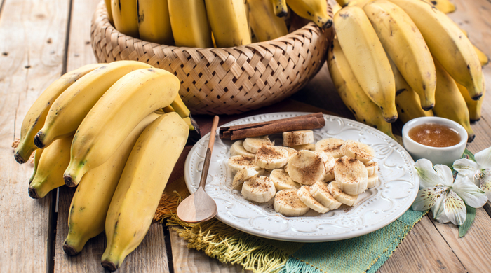
[[179, 88], [172, 73], [142, 62], [90, 64], [29, 109], [15, 149], [19, 163], [34, 151], [29, 195], [78, 185], [67, 254], [106, 230], [102, 265], [114, 271], [141, 243], [192, 127]]

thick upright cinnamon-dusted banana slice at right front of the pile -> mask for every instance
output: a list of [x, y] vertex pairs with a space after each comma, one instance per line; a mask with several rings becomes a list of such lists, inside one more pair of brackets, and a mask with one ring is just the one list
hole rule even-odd
[[339, 188], [349, 195], [363, 193], [367, 189], [367, 168], [360, 160], [344, 156], [336, 160], [334, 167]]

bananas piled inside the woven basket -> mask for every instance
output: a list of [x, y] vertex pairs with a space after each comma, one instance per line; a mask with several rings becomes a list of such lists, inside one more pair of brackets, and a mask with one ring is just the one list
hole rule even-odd
[[[123, 34], [189, 48], [229, 48], [288, 34], [288, 6], [325, 28], [326, 0], [105, 0], [109, 21]], [[251, 29], [254, 38], [251, 36]]]

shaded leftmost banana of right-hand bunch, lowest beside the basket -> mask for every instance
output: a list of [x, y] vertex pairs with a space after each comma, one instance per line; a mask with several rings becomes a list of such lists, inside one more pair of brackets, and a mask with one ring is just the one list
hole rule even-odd
[[361, 89], [336, 38], [328, 50], [328, 67], [339, 97], [356, 120], [375, 127], [395, 139], [391, 123], [384, 120], [379, 106], [373, 103]]

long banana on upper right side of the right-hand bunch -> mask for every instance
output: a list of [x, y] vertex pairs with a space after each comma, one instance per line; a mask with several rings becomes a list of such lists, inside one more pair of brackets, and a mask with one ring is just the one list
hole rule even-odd
[[431, 55], [452, 78], [464, 85], [472, 99], [483, 95], [483, 73], [469, 38], [445, 13], [424, 1], [390, 0], [415, 22]]

